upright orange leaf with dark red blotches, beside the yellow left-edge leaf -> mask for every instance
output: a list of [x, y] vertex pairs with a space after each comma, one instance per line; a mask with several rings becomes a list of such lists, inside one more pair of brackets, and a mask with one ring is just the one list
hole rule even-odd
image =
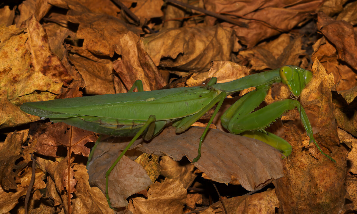
[[27, 28], [26, 33], [29, 36], [26, 48], [31, 53], [31, 69], [40, 71], [55, 83], [63, 82], [67, 86], [73, 78], [68, 74], [58, 56], [51, 52], [46, 31], [36, 20], [35, 14], [24, 21], [21, 28]]

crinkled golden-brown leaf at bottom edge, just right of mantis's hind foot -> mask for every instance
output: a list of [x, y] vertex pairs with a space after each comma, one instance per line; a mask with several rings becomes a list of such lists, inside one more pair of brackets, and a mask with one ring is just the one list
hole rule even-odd
[[186, 204], [186, 189], [175, 179], [156, 181], [147, 191], [147, 199], [136, 197], [130, 200], [128, 210], [133, 213], [183, 213]]

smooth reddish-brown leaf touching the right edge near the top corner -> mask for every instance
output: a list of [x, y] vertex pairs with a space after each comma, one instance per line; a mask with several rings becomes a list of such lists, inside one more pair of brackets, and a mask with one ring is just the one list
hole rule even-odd
[[338, 59], [357, 69], [357, 36], [353, 26], [346, 21], [336, 21], [320, 12], [317, 28], [336, 46]]

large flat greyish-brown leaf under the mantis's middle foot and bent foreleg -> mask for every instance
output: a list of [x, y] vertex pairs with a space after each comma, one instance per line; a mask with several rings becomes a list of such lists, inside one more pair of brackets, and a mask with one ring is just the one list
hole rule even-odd
[[[132, 147], [126, 155], [141, 151], [160, 156], [169, 155], [174, 160], [181, 160], [186, 155], [188, 160], [192, 161], [197, 156], [198, 142], [203, 130], [200, 127], [191, 127], [185, 133], [177, 135], [175, 128], [168, 127], [149, 143], [142, 139], [136, 140], [134, 145], [137, 146]], [[108, 145], [103, 141], [99, 144], [108, 148], [103, 149], [104, 151], [119, 151], [128, 142], [117, 138], [107, 140], [110, 142], [106, 143]], [[228, 184], [231, 175], [234, 175], [243, 188], [249, 191], [260, 189], [270, 183], [271, 179], [282, 176], [281, 153], [259, 140], [211, 129], [203, 141], [201, 154], [200, 160], [194, 165], [212, 180]], [[119, 153], [115, 156], [118, 155]]]

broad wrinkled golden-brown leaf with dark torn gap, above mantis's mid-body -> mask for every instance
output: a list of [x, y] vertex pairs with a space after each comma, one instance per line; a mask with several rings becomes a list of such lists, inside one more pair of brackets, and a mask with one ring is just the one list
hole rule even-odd
[[[197, 72], [207, 70], [212, 59], [230, 60], [232, 33], [220, 26], [187, 26], [164, 29], [143, 42], [155, 65]], [[164, 57], [167, 59], [161, 60]]]

